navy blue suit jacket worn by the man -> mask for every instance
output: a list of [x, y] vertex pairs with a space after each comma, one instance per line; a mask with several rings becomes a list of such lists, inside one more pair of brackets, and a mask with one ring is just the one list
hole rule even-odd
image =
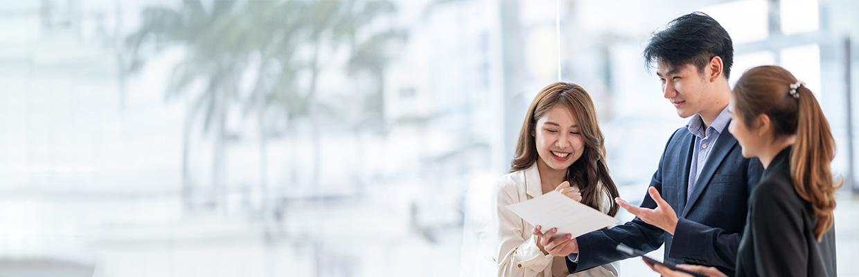
[[[698, 183], [687, 196], [694, 143], [695, 135], [689, 129], [674, 131], [650, 180], [650, 186], [659, 190], [677, 213], [674, 235], [638, 218], [622, 226], [584, 234], [577, 238], [578, 262], [567, 258], [570, 272], [631, 257], [615, 250], [618, 243], [645, 252], [664, 243], [667, 261], [716, 267], [728, 275], [734, 274], [748, 198], [764, 169], [758, 159], [743, 158], [740, 145], [726, 126], [698, 176]], [[656, 208], [656, 203], [645, 193], [641, 207]]]

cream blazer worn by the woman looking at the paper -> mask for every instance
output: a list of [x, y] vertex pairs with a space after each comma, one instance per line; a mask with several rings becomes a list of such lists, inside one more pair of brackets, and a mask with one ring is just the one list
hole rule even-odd
[[[537, 238], [531, 231], [533, 226], [522, 220], [505, 206], [527, 201], [543, 194], [540, 186], [537, 163], [526, 170], [512, 172], [496, 181], [491, 199], [492, 228], [495, 231], [495, 261], [498, 276], [505, 277], [551, 277], [551, 276], [606, 276], [618, 275], [618, 262], [591, 268], [576, 274], [569, 274], [564, 256], [548, 256], [539, 250]], [[603, 196], [603, 198], [607, 198]], [[607, 210], [610, 200], [600, 199]], [[603, 213], [606, 213], [603, 210]], [[570, 214], [574, 216], [575, 214]], [[552, 263], [563, 262], [552, 274]]]

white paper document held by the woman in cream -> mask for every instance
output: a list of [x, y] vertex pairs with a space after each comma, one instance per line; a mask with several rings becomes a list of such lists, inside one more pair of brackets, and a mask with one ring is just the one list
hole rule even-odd
[[526, 202], [507, 205], [507, 208], [533, 226], [541, 226], [542, 232], [557, 228], [556, 237], [569, 233], [576, 238], [604, 227], [611, 228], [618, 223], [613, 217], [557, 191], [550, 191]]

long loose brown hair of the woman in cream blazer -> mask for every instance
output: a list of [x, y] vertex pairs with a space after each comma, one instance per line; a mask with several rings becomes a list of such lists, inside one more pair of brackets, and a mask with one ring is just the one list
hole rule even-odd
[[600, 203], [599, 196], [603, 194], [609, 200], [607, 214], [618, 214], [618, 204], [613, 201], [614, 197], [618, 197], [618, 188], [608, 175], [606, 146], [603, 144], [605, 140], [600, 131], [594, 101], [579, 85], [556, 82], [543, 87], [537, 93], [537, 97], [534, 97], [528, 107], [525, 122], [519, 131], [519, 141], [516, 142], [516, 154], [510, 163], [510, 172], [525, 170], [539, 159], [533, 136], [537, 120], [557, 105], [563, 106], [576, 117], [585, 144], [582, 156], [567, 169], [567, 181], [570, 181], [570, 184], [578, 184], [582, 192], [582, 204], [602, 210], [603, 203]]

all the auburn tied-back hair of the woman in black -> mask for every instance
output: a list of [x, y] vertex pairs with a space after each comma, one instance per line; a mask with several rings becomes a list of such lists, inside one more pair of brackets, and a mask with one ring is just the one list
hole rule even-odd
[[830, 163], [835, 158], [835, 139], [829, 122], [814, 94], [805, 86], [796, 89], [798, 99], [789, 93], [797, 80], [786, 69], [775, 65], [749, 69], [734, 86], [734, 108], [752, 126], [754, 119], [766, 114], [775, 137], [796, 135], [790, 154], [790, 178], [802, 199], [812, 204], [817, 219], [814, 236], [818, 240], [832, 228], [835, 190], [844, 183], [834, 179]]

